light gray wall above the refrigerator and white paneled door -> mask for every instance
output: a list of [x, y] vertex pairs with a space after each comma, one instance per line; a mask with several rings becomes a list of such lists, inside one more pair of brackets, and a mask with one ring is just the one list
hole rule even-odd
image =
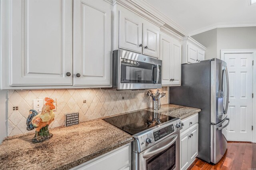
[[207, 48], [205, 59], [220, 59], [221, 49], [256, 49], [256, 27], [216, 28], [192, 38]]

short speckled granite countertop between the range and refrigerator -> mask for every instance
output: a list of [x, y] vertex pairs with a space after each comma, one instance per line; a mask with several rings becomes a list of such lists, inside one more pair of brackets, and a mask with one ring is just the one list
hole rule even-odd
[[[151, 108], [147, 110], [152, 111]], [[201, 109], [172, 104], [161, 105], [161, 109], [156, 110], [157, 113], [169, 115], [172, 117], [179, 117], [181, 120], [190, 117], [191, 115], [194, 115], [195, 113], [198, 113], [200, 111]]]

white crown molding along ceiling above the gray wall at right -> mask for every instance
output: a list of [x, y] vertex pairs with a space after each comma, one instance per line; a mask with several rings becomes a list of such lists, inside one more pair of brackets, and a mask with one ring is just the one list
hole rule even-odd
[[222, 23], [216, 23], [212, 24], [210, 26], [206, 26], [204, 28], [200, 28], [198, 30], [190, 32], [189, 36], [194, 36], [196, 34], [200, 34], [202, 32], [206, 32], [215, 28], [230, 28], [230, 27], [254, 27], [256, 26], [256, 22], [222, 22]]

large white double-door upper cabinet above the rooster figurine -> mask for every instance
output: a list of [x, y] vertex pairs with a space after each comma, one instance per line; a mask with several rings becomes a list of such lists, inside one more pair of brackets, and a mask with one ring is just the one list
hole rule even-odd
[[3, 1], [1, 89], [111, 87], [112, 9], [104, 0]]

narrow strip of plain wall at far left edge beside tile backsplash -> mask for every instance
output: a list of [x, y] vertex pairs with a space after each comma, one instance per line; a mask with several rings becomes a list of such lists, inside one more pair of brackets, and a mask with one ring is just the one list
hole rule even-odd
[[0, 143], [7, 136], [7, 90], [0, 90]]

